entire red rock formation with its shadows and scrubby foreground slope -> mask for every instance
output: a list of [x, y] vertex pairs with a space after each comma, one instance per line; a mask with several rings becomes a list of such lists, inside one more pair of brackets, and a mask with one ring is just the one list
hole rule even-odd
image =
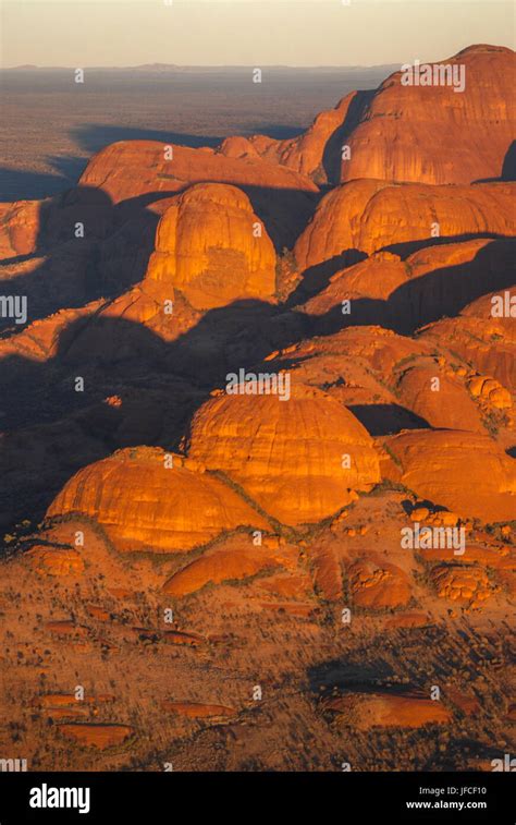
[[28, 296], [0, 335], [2, 753], [340, 769], [343, 726], [353, 769], [505, 751], [513, 60], [460, 52], [460, 94], [396, 73], [285, 141], [116, 143], [0, 205], [0, 292]]

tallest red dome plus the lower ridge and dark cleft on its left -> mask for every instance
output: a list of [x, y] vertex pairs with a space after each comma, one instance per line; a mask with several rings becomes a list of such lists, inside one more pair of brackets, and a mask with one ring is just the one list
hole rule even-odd
[[[231, 156], [257, 153], [318, 183], [377, 178], [464, 184], [511, 173], [516, 136], [512, 49], [470, 46], [426, 66], [419, 72], [430, 71], [432, 85], [408, 85], [407, 64], [376, 92], [353, 92], [320, 112], [298, 137], [255, 135], [238, 149], [231, 145]], [[454, 85], [462, 90], [454, 92]], [[225, 145], [222, 150], [230, 154]]]

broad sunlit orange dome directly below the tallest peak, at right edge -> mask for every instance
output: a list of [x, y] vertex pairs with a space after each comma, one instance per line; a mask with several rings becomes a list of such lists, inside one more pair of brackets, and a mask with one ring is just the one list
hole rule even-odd
[[509, 236], [515, 232], [514, 193], [509, 183], [394, 186], [378, 180], [352, 181], [322, 198], [294, 254], [300, 269], [325, 264], [328, 275], [333, 275], [355, 263], [346, 262], [351, 251], [370, 255], [389, 248], [403, 254], [411, 252], [416, 242], [429, 245], [432, 238]]

